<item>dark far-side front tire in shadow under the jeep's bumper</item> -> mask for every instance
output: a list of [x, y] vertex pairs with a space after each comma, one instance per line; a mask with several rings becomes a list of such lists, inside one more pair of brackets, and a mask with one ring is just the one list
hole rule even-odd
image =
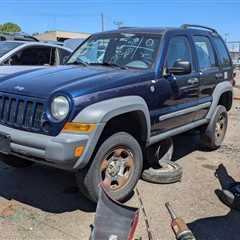
[[14, 168], [26, 168], [34, 164], [34, 162], [28, 161], [23, 158], [19, 158], [12, 155], [0, 154], [1, 161], [7, 164], [10, 167]]

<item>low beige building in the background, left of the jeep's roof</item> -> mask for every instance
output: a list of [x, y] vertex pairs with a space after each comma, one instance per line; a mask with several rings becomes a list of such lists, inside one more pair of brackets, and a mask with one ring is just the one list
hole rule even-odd
[[67, 39], [86, 39], [90, 33], [83, 32], [67, 32], [67, 31], [47, 31], [34, 35], [40, 41], [58, 41], [64, 42]]

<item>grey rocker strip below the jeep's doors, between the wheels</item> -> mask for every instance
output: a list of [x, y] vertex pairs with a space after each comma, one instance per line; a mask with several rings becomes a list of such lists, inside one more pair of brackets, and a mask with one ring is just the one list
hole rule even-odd
[[172, 129], [170, 131], [167, 131], [165, 133], [161, 133], [161, 134], [158, 134], [156, 136], [150, 137], [150, 141], [149, 141], [148, 146], [150, 146], [154, 143], [157, 143], [161, 140], [164, 140], [166, 138], [178, 135], [178, 134], [183, 133], [183, 132], [187, 132], [191, 129], [197, 128], [197, 127], [199, 127], [201, 125], [204, 125], [208, 122], [209, 121], [207, 119], [202, 119], [202, 120], [199, 120], [199, 121], [196, 121], [196, 122], [189, 123], [189, 124], [187, 124], [185, 126], [182, 126], [182, 127], [174, 128], [174, 129]]

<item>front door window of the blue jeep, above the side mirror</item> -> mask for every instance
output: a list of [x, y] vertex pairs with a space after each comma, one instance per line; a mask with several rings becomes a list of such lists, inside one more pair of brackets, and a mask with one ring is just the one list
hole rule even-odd
[[190, 44], [184, 36], [170, 39], [166, 59], [167, 67], [175, 67], [175, 63], [179, 60], [192, 63]]

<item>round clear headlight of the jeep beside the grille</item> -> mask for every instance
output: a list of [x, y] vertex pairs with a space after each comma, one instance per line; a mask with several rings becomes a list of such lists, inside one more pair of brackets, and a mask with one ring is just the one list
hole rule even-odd
[[69, 113], [69, 102], [66, 97], [55, 97], [51, 103], [52, 116], [58, 121], [63, 120]]

